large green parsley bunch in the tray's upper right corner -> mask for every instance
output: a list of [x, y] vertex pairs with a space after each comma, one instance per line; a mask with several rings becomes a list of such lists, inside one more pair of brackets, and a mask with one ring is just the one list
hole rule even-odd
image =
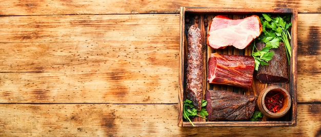
[[[258, 70], [259, 65], [269, 65], [268, 62], [274, 54], [274, 52], [270, 52], [270, 49], [278, 48], [280, 41], [285, 45], [288, 62], [290, 63], [292, 48], [289, 42], [289, 40], [291, 40], [291, 34], [288, 29], [292, 24], [287, 23], [290, 21], [290, 18], [290, 15], [283, 17], [277, 15], [276, 17], [272, 17], [270, 14], [262, 14], [260, 21], [263, 27], [263, 33], [257, 37], [257, 41], [265, 43], [266, 47], [262, 50], [257, 50], [254, 41], [252, 56], [255, 60], [255, 70]], [[256, 49], [256, 52], [254, 52], [254, 49]]]

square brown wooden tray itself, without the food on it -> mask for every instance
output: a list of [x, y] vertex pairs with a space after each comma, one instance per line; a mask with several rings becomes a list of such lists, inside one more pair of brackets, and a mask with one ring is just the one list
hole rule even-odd
[[[250, 89], [237, 88], [233, 86], [226, 85], [211, 85], [206, 82], [207, 79], [207, 59], [210, 53], [218, 52], [224, 54], [238, 54], [238, 55], [251, 55], [252, 47], [248, 46], [243, 50], [238, 50], [232, 46], [225, 49], [214, 50], [207, 46], [207, 32], [210, 26], [210, 22], [215, 15], [228, 15], [230, 18], [238, 19], [250, 16], [253, 14], [262, 15], [262, 13], [269, 14], [290, 14], [291, 15], [291, 47], [292, 47], [292, 57], [290, 58], [289, 66], [289, 79], [288, 83], [272, 83], [264, 84], [260, 83], [253, 76], [252, 87]], [[197, 17], [195, 17], [197, 16]], [[207, 22], [204, 19], [207, 18]], [[188, 21], [188, 22], [186, 22]], [[293, 8], [277, 8], [277, 9], [238, 9], [238, 8], [190, 8], [181, 7], [180, 8], [180, 51], [179, 51], [179, 93], [178, 93], [178, 126], [179, 127], [193, 127], [190, 122], [183, 120], [183, 102], [186, 99], [186, 60], [187, 60], [187, 30], [188, 27], [195, 24], [201, 30], [202, 45], [204, 50], [204, 94], [207, 89], [213, 86], [217, 89], [230, 90], [233, 92], [238, 92], [241, 94], [251, 94], [258, 96], [260, 91], [262, 91], [268, 85], [280, 85], [287, 89], [292, 97], [292, 107], [290, 111], [279, 119], [266, 119], [265, 116], [262, 121], [215, 121], [209, 122], [205, 119], [193, 119], [193, 124], [195, 127], [237, 127], [237, 126], [295, 126], [296, 125], [296, 111], [297, 111], [297, 99], [296, 99], [296, 80], [297, 80], [297, 10]], [[255, 110], [258, 110], [255, 108]]]

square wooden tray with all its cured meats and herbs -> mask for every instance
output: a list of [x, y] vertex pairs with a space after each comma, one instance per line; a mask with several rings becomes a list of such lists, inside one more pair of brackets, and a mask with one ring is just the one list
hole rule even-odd
[[[182, 7], [180, 11], [178, 126], [296, 124], [296, 9]], [[280, 93], [260, 97], [273, 85], [292, 96], [290, 110], [280, 118], [257, 106], [268, 100], [284, 102]], [[289, 106], [274, 104], [268, 107]]]

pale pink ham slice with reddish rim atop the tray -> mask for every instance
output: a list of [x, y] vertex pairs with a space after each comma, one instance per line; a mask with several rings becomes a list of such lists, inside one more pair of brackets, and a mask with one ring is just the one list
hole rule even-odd
[[213, 49], [234, 46], [244, 49], [262, 32], [262, 24], [257, 15], [243, 19], [231, 19], [227, 16], [217, 15], [213, 18], [207, 44]]

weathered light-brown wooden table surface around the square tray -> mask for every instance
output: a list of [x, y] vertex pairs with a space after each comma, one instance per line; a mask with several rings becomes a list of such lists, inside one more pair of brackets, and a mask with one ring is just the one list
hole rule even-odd
[[[0, 136], [321, 136], [321, 1], [0, 1]], [[297, 8], [297, 125], [177, 127], [179, 7]]]

